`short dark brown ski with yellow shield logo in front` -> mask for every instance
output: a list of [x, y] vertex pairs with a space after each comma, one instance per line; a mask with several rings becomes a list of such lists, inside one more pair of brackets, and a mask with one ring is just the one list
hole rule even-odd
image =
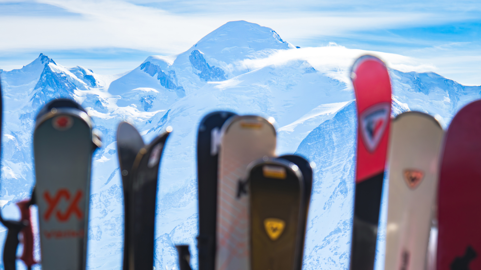
[[251, 270], [300, 270], [304, 180], [293, 163], [263, 158], [249, 165]]

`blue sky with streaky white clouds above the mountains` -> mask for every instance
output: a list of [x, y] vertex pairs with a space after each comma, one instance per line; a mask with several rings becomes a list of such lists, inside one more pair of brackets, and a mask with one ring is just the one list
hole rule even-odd
[[117, 74], [245, 20], [301, 48], [334, 42], [396, 53], [480, 86], [480, 11], [478, 0], [0, 0], [0, 69], [44, 53], [66, 67]]

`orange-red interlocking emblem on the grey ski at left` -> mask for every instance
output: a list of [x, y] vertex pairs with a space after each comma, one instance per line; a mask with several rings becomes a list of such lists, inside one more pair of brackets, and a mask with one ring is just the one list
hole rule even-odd
[[[80, 210], [80, 208], [78, 207], [78, 203], [80, 202], [82, 196], [83, 193], [81, 190], [77, 190], [75, 196], [73, 197], [70, 195], [70, 191], [65, 188], [59, 189], [54, 197], [50, 195], [49, 191], [45, 191], [43, 193], [43, 198], [47, 202], [48, 208], [43, 215], [43, 219], [45, 221], [49, 221], [52, 214], [55, 215], [58, 221], [62, 222], [68, 221], [71, 215], [75, 215], [79, 220], [82, 219], [83, 213], [82, 210]], [[69, 204], [64, 213], [62, 213], [62, 211], [57, 208], [62, 198], [64, 198], [65, 201]]]

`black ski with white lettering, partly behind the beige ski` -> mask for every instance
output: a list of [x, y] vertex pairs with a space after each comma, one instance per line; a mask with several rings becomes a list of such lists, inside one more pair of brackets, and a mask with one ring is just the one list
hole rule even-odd
[[214, 270], [215, 217], [217, 214], [217, 168], [220, 129], [229, 117], [228, 111], [206, 115], [197, 134], [197, 183], [199, 193], [199, 270]]

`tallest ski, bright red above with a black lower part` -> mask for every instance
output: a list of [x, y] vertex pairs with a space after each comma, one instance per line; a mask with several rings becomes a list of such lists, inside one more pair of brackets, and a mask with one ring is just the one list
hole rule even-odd
[[372, 270], [389, 139], [391, 82], [384, 62], [365, 55], [351, 72], [357, 105], [357, 154], [351, 270]]

